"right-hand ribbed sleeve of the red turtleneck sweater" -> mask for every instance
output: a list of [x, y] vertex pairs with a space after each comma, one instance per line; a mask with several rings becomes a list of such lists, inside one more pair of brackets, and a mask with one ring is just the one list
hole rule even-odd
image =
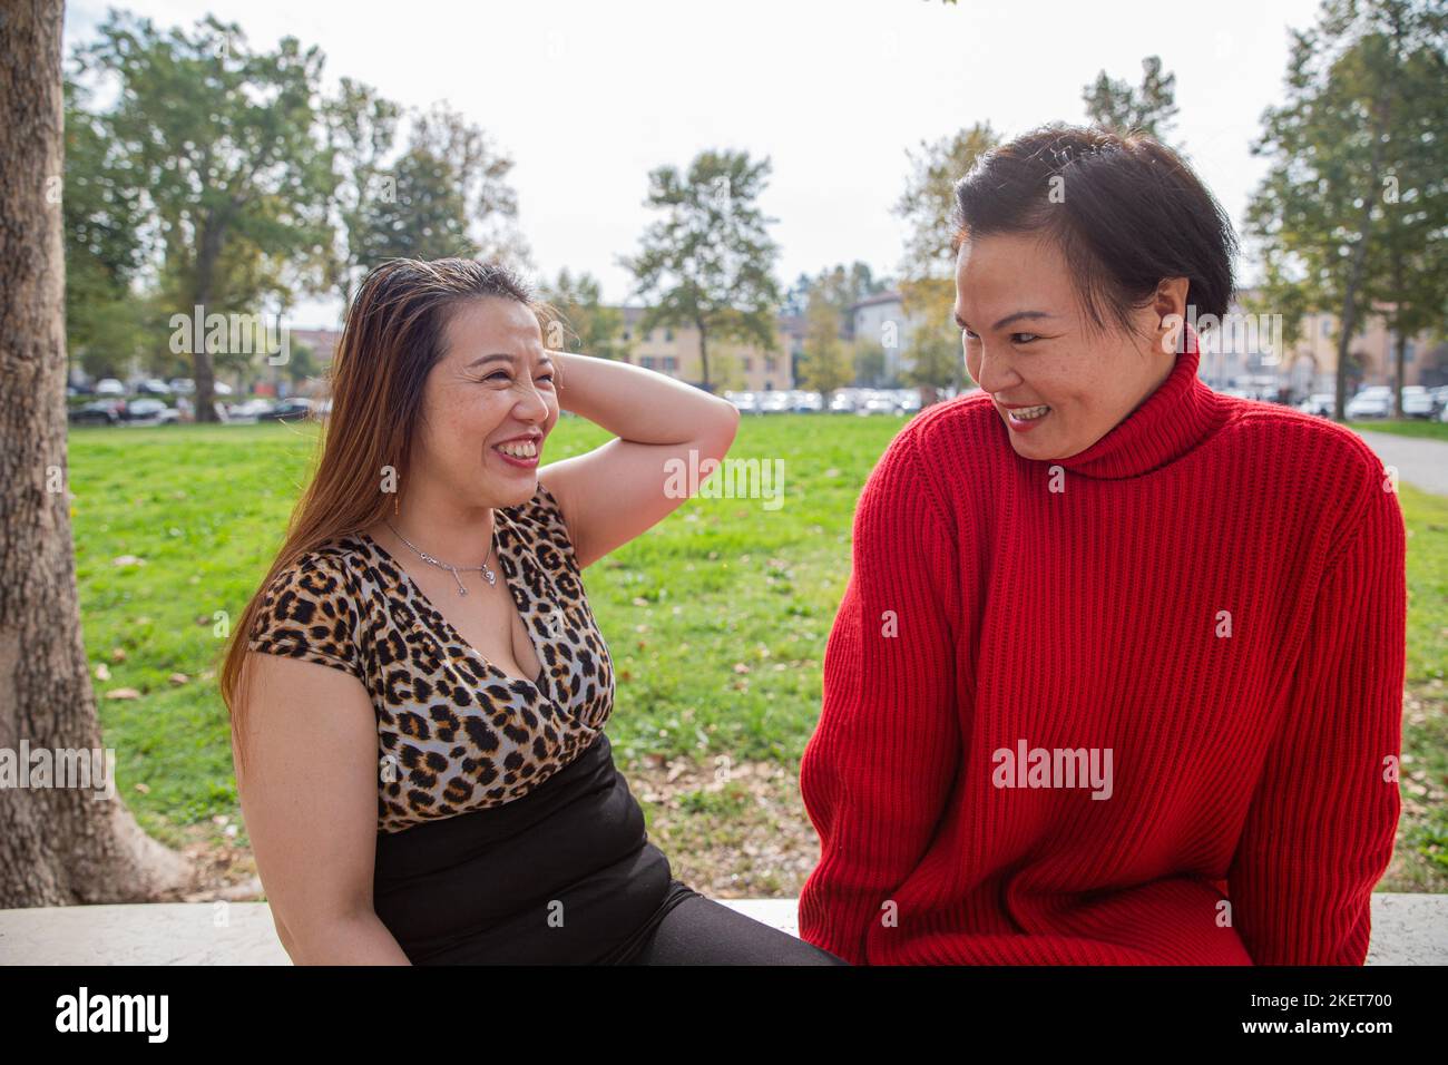
[[[1374, 477], [1376, 481], [1376, 477]], [[1400, 798], [1407, 591], [1397, 494], [1376, 483], [1328, 562], [1229, 872], [1258, 965], [1361, 965]]]

